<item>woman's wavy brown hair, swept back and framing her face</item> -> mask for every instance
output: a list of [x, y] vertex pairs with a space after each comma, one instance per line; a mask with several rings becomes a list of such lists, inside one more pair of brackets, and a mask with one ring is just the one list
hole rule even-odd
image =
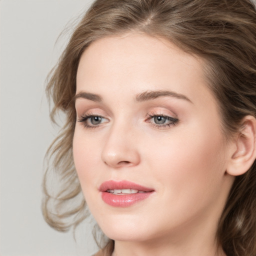
[[[79, 58], [96, 39], [129, 31], [163, 37], [204, 60], [227, 138], [244, 116], [256, 117], [256, 12], [249, 0], [96, 0], [76, 26], [46, 88], [53, 100], [51, 119], [58, 110], [66, 114], [47, 151], [43, 181], [45, 220], [60, 231], [76, 226], [87, 214], [72, 159], [76, 118], [72, 99]], [[48, 186], [52, 169], [60, 182], [55, 193]], [[68, 208], [70, 202], [76, 204]], [[228, 256], [256, 255], [255, 161], [235, 178], [217, 239]]]

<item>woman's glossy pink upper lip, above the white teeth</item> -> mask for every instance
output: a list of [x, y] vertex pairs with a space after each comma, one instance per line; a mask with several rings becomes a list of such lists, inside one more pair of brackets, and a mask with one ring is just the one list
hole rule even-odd
[[104, 181], [99, 186], [99, 191], [105, 192], [107, 189], [137, 189], [140, 191], [153, 191], [154, 189], [145, 187], [134, 182], [128, 180], [121, 180], [121, 181], [114, 181], [114, 180], [107, 180]]

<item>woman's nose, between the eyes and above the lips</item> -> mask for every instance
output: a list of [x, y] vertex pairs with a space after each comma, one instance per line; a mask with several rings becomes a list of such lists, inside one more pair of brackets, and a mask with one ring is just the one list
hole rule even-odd
[[140, 161], [136, 133], [132, 127], [113, 125], [106, 134], [102, 149], [102, 161], [112, 167], [135, 166]]

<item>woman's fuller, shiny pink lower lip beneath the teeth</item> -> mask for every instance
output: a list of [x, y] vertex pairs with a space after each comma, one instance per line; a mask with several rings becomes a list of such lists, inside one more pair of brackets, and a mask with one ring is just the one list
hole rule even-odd
[[115, 207], [128, 207], [135, 202], [146, 199], [151, 195], [153, 191], [148, 191], [145, 193], [134, 193], [134, 194], [112, 194], [109, 192], [101, 192], [102, 200]]

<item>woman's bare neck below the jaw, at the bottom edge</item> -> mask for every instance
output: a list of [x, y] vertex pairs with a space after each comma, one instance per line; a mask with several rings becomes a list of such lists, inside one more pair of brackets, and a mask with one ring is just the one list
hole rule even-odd
[[172, 234], [160, 234], [152, 239], [115, 240], [112, 256], [225, 256], [215, 236], [217, 221], [199, 218], [192, 222], [179, 226]]

